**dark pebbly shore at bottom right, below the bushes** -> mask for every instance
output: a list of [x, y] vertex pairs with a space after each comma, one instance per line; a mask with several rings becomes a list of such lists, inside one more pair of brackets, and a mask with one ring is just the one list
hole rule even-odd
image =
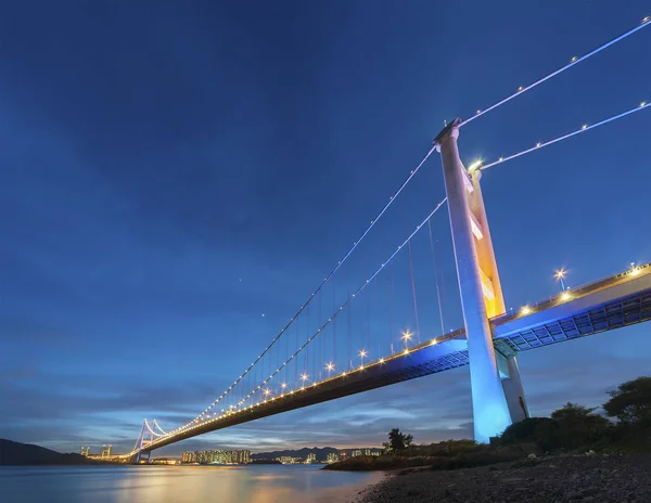
[[563, 455], [396, 473], [357, 503], [650, 503], [651, 454]]

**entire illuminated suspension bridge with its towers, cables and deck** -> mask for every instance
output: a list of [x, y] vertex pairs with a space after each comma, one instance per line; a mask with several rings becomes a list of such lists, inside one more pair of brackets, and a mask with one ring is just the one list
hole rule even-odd
[[[468, 168], [461, 162], [457, 139], [467, 125], [649, 25], [651, 17], [644, 17], [625, 34], [580, 57], [572, 57], [494, 105], [477, 109], [465, 120], [455, 119], [446, 125], [365, 232], [227, 389], [196, 417], [174, 429], [166, 431], [155, 420], [145, 420], [130, 452], [111, 454], [108, 450], [101, 459], [142, 462], [149, 460], [153, 450], [180, 440], [464, 365], [470, 366], [477, 441], [487, 442], [511, 423], [527, 417], [518, 354], [649, 321], [651, 265], [631, 263], [625, 271], [573, 288], [564, 286], [564, 272], [559, 271], [563, 287], [558, 295], [516, 311], [507, 310], [482, 195], [482, 175], [644, 111], [651, 103], [631, 104], [611, 117]], [[397, 247], [390, 246], [382, 221], [435, 152], [441, 154], [445, 197]], [[449, 285], [445, 284], [439, 263], [444, 252], [433, 232], [435, 217], [445, 207], [463, 314], [463, 325], [457, 330], [445, 327]], [[375, 269], [363, 259], [361, 266], [355, 267], [354, 257], [361, 254], [362, 243], [378, 232], [374, 229], [383, 234], [383, 259]], [[430, 265], [427, 281], [434, 285], [425, 300], [417, 295], [414, 263], [419, 259]], [[429, 307], [426, 312], [419, 311], [419, 302]], [[379, 319], [385, 320], [386, 326], [381, 326]]]

